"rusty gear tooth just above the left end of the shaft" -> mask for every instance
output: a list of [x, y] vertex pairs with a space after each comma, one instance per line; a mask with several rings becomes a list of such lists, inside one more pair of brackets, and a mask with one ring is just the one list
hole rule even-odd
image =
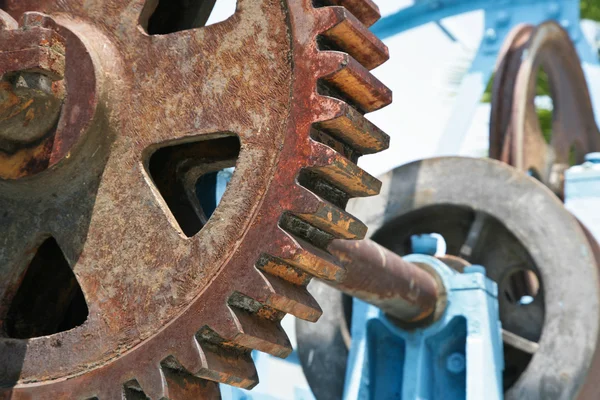
[[343, 209], [321, 199], [310, 190], [300, 187], [301, 199], [292, 214], [306, 223], [329, 233], [338, 239], [362, 239], [367, 226]]

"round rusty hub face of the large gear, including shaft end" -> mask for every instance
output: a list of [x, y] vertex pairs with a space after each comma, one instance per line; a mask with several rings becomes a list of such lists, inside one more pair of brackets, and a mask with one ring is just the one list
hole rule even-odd
[[8, 22], [0, 31], [2, 179], [35, 175], [69, 157], [97, 102], [95, 67], [79, 37], [42, 13], [13, 15], [21, 27]]

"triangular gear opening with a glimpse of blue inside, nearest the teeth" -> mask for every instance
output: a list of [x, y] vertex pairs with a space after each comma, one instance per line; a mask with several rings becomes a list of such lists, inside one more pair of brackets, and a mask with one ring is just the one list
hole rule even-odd
[[211, 217], [233, 175], [240, 141], [233, 134], [161, 147], [148, 172], [181, 231], [196, 235]]

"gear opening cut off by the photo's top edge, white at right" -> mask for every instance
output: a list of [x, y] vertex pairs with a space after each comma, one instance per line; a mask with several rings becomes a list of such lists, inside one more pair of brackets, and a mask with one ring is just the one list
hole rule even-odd
[[213, 25], [231, 17], [236, 6], [237, 0], [159, 0], [147, 31], [150, 35], [166, 35]]

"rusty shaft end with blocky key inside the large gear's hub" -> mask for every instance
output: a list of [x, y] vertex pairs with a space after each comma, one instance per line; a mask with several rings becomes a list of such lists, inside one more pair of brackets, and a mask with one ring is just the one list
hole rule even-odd
[[[2, 15], [0, 30], [0, 149], [8, 160], [0, 177], [39, 172], [50, 157], [65, 95], [65, 38], [43, 14], [23, 15], [20, 27]], [[23, 150], [24, 147], [29, 147]]]

